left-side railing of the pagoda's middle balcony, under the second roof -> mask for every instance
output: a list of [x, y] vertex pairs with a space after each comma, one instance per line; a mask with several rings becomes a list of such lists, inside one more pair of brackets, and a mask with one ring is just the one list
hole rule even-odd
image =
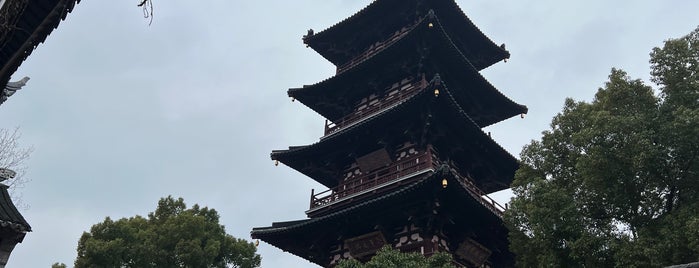
[[337, 122], [335, 123], [326, 121], [325, 135], [322, 138], [325, 138], [354, 123], [357, 123], [364, 118], [388, 110], [391, 107], [396, 106], [400, 102], [414, 96], [425, 87], [427, 87], [427, 80], [425, 80], [424, 77], [414, 82], [396, 83], [386, 91], [386, 96], [384, 98], [368, 100], [365, 104], [367, 105], [366, 108], [358, 108], [353, 113], [337, 120]]

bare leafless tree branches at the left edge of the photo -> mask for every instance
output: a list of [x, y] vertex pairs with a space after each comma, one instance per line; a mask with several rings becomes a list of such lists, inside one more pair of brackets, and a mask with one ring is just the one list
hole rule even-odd
[[5, 129], [0, 128], [0, 168], [10, 169], [16, 172], [16, 175], [2, 183], [9, 186], [8, 191], [18, 208], [26, 208], [22, 203], [21, 194], [18, 191], [22, 189], [28, 182], [25, 177], [27, 171], [26, 161], [29, 159], [33, 149], [31, 147], [23, 147], [19, 143], [22, 135], [19, 128]]

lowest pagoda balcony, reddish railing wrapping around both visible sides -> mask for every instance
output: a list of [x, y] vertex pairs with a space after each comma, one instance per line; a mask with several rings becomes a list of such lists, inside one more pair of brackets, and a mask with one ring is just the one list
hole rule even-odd
[[[413, 182], [418, 175], [434, 172], [443, 165], [436, 152], [428, 146], [425, 152], [419, 152], [413, 156], [401, 159], [389, 166], [380, 168], [368, 174], [341, 183], [339, 186], [314, 193], [311, 190], [310, 209], [306, 212], [309, 215], [324, 208], [339, 205], [343, 201], [366, 197], [393, 190], [406, 183]], [[461, 175], [453, 165], [449, 165], [450, 173], [456, 178], [461, 186], [475, 200], [480, 202], [498, 217], [502, 217], [506, 207], [501, 206], [491, 199], [468, 177]]]

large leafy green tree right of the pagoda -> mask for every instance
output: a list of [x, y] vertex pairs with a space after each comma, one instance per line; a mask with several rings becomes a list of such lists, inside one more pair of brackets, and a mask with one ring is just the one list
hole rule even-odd
[[521, 153], [505, 213], [522, 267], [699, 259], [699, 28], [651, 53], [652, 81], [612, 69]]

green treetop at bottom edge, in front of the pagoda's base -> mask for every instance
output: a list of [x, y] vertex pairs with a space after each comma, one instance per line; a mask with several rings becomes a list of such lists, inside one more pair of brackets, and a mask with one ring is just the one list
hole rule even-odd
[[425, 257], [419, 253], [402, 253], [384, 246], [367, 263], [362, 264], [355, 259], [342, 260], [337, 268], [450, 268], [451, 255], [445, 252], [438, 252], [432, 256]]

